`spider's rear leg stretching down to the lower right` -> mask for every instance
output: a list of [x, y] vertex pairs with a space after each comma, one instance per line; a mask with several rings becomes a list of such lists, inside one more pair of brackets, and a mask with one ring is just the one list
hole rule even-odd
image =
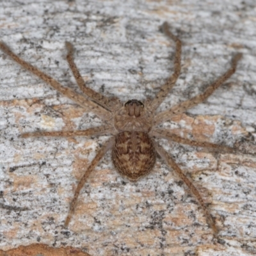
[[171, 156], [169, 156], [169, 154], [164, 150], [164, 148], [161, 147], [160, 145], [157, 145], [157, 143], [155, 143], [155, 146], [156, 146], [156, 151], [159, 154], [159, 156], [161, 156], [164, 159], [164, 161], [166, 162], [166, 164], [168, 164], [168, 166], [170, 166], [179, 175], [180, 179], [184, 183], [186, 183], [186, 185], [188, 186], [190, 191], [193, 193], [193, 195], [195, 195], [195, 197], [198, 200], [198, 202], [200, 203], [201, 207], [204, 209], [205, 216], [207, 218], [207, 223], [212, 228], [212, 230], [214, 232], [214, 236], [217, 236], [218, 235], [218, 229], [217, 229], [217, 227], [214, 223], [214, 220], [212, 219], [211, 214], [208, 211], [207, 205], [205, 205], [204, 200], [203, 200], [202, 196], [200, 195], [200, 193], [198, 192], [198, 190], [196, 189], [196, 187], [186, 177], [186, 175], [184, 175], [184, 173], [179, 168], [177, 163], [175, 163], [175, 161], [172, 159]]

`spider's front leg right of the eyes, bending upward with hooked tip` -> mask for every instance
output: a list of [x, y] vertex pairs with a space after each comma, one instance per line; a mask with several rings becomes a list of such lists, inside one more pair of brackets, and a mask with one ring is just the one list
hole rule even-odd
[[175, 59], [174, 59], [174, 72], [172, 76], [168, 78], [166, 83], [161, 86], [160, 91], [157, 93], [156, 97], [152, 100], [150, 103], [150, 111], [154, 113], [158, 106], [163, 102], [167, 94], [170, 92], [170, 90], [173, 88], [175, 82], [177, 81], [179, 74], [180, 74], [180, 55], [181, 55], [181, 41], [177, 36], [173, 35], [170, 32], [169, 26], [167, 22], [164, 22], [163, 26], [163, 32], [166, 36], [171, 38], [175, 44], [176, 44], [176, 52], [175, 52]]

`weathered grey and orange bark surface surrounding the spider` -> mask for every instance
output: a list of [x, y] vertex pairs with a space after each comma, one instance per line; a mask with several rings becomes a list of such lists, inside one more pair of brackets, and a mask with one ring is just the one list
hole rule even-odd
[[[83, 172], [79, 163], [86, 168], [107, 137], [20, 138], [36, 130], [86, 129], [100, 120], [0, 52], [0, 248], [38, 242], [91, 255], [255, 254], [255, 11], [253, 0], [1, 1], [0, 38], [13, 51], [77, 88], [65, 60], [65, 41], [72, 42], [91, 88], [124, 101], [154, 97], [171, 74], [175, 45], [159, 31], [165, 20], [182, 40], [182, 74], [161, 109], [202, 92], [230, 67], [235, 52], [243, 59], [227, 83], [183, 116], [187, 122], [164, 124], [190, 138], [238, 141], [241, 150], [211, 154], [161, 141], [210, 203], [217, 243], [195, 198], [163, 161], [132, 184], [115, 172], [109, 154], [64, 228]], [[200, 122], [212, 130], [201, 134]]]

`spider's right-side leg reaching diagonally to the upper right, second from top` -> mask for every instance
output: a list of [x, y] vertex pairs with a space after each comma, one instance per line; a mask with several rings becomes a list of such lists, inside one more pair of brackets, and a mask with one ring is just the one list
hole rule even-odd
[[184, 113], [189, 108], [193, 108], [194, 106], [200, 104], [205, 99], [207, 99], [213, 92], [216, 90], [223, 82], [225, 82], [234, 72], [236, 72], [236, 66], [237, 62], [241, 59], [242, 54], [238, 53], [234, 56], [231, 62], [231, 68], [228, 69], [223, 76], [221, 76], [219, 79], [217, 79], [213, 84], [211, 84], [204, 93], [201, 93], [199, 95], [196, 95], [192, 99], [186, 100], [184, 102], [181, 102], [180, 104], [174, 106], [173, 108], [163, 111], [156, 115], [154, 125], [161, 124], [165, 122], [166, 120], [169, 120], [174, 115], [180, 115], [181, 113]]

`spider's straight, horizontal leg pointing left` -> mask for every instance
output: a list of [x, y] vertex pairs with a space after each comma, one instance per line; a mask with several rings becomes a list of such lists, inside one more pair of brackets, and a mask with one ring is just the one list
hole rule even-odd
[[99, 136], [99, 135], [115, 134], [115, 129], [109, 127], [108, 125], [102, 125], [99, 127], [93, 127], [86, 130], [79, 131], [52, 131], [52, 132], [25, 132], [21, 134], [22, 138], [29, 137], [42, 137], [42, 136], [52, 136], [52, 137], [75, 137], [75, 136]]

